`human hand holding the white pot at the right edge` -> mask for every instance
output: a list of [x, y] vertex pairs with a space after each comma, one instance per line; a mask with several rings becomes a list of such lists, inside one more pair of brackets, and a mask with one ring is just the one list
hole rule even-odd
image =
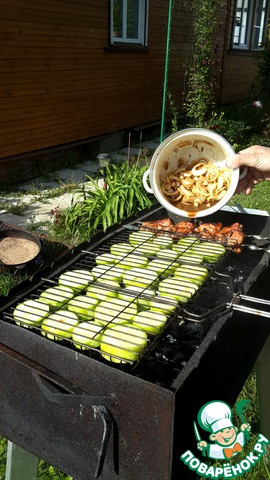
[[249, 195], [255, 185], [263, 180], [270, 180], [270, 148], [260, 145], [241, 150], [227, 161], [227, 167], [248, 167], [247, 175], [239, 181], [236, 193]]

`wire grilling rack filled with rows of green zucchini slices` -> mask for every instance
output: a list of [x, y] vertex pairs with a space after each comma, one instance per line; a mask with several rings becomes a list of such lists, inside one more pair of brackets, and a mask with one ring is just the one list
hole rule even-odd
[[[71, 269], [63, 268], [53, 278], [43, 279], [41, 286], [21, 300], [26, 309], [12, 306], [4, 312], [4, 320], [110, 364], [134, 366], [150, 348], [155, 348], [171, 322], [181, 323], [186, 309], [200, 294], [201, 286], [190, 281], [193, 269], [206, 269], [207, 282], [218, 265], [196, 264], [192, 255], [187, 256], [199, 241], [195, 236], [188, 237], [189, 243], [181, 252], [172, 248], [157, 248], [154, 252], [152, 248], [160, 247], [162, 240], [175, 246], [181, 238], [187, 237], [140, 230], [139, 224], [127, 225], [96, 250], [82, 250], [80, 260]], [[227, 248], [225, 256], [229, 252]], [[154, 274], [147, 270], [151, 261], [160, 264], [161, 270]], [[173, 268], [183, 263], [189, 275], [174, 285]], [[161, 285], [167, 287], [161, 291]], [[51, 289], [55, 288], [54, 293]], [[193, 317], [194, 321], [203, 320], [199, 315]]]

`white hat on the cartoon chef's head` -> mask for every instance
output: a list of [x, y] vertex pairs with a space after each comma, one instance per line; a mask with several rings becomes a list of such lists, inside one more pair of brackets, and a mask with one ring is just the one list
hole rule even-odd
[[200, 409], [198, 422], [204, 430], [216, 433], [223, 428], [233, 427], [231, 417], [232, 411], [227, 403], [214, 401]]

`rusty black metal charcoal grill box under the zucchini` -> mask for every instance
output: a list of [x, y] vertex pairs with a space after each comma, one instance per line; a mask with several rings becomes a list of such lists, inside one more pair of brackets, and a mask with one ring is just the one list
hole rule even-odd
[[77, 480], [195, 478], [180, 455], [196, 452], [200, 407], [216, 398], [234, 403], [269, 335], [267, 312], [258, 316], [269, 298], [269, 253], [248, 237], [269, 236], [269, 218], [226, 211], [205, 221], [240, 222], [255, 250], [228, 252], [203, 295], [170, 318], [138, 362], [107, 362], [95, 349], [80, 352], [14, 324], [19, 302], [62, 272], [92, 265], [96, 252], [138, 223], [165, 216], [154, 206], [98, 234], [1, 307], [0, 434]]

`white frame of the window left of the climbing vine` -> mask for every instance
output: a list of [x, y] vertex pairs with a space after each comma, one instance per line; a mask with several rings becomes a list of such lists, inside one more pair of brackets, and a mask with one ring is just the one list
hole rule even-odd
[[134, 44], [134, 45], [147, 45], [147, 29], [148, 29], [148, 2], [149, 0], [139, 0], [138, 8], [138, 37], [130, 38], [127, 37], [127, 2], [128, 0], [121, 0], [123, 8], [123, 18], [122, 18], [122, 37], [114, 36], [114, 25], [113, 25], [113, 11], [114, 11], [114, 0], [110, 0], [110, 41], [111, 45], [115, 44]]

